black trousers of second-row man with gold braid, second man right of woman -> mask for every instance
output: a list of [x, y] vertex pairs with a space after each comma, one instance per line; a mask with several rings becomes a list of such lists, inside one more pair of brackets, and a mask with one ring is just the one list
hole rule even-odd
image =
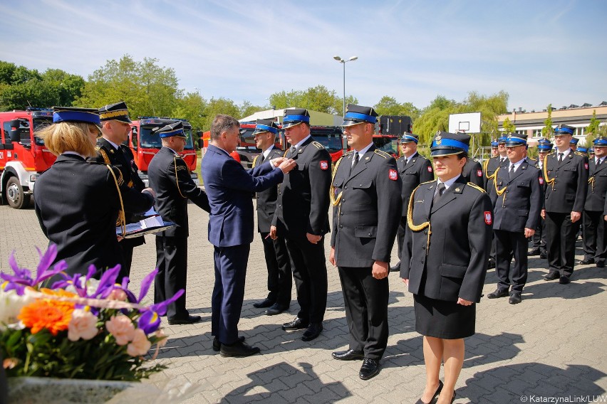
[[571, 223], [571, 213], [546, 212], [546, 250], [550, 273], [570, 277], [574, 272], [576, 235], [579, 226]]

